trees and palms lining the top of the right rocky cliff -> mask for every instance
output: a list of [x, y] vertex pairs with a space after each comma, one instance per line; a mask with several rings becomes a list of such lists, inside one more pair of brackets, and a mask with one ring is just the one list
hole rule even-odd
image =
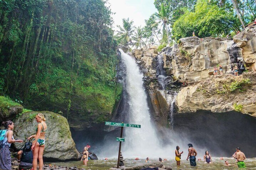
[[[154, 5], [158, 12], [140, 27], [142, 40], [148, 46], [170, 46], [173, 40], [192, 36], [193, 31], [200, 38], [235, 35], [256, 17], [255, 0], [155, 0]], [[129, 44], [120, 43], [141, 48], [134, 36], [131, 32]]]

